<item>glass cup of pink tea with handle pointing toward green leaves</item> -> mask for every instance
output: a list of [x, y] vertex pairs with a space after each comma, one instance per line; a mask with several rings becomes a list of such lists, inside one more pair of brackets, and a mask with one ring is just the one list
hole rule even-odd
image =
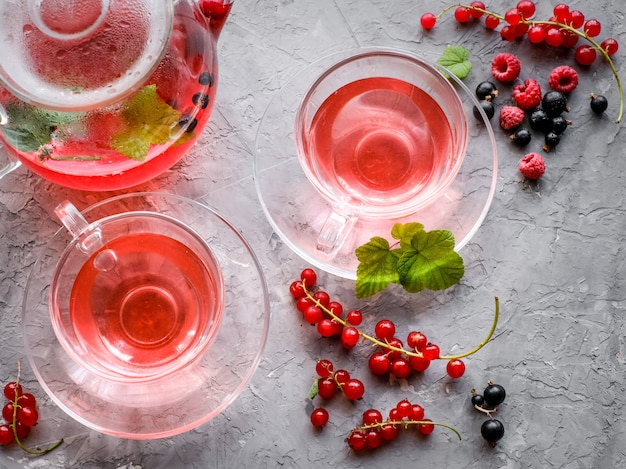
[[358, 219], [394, 219], [432, 204], [466, 152], [467, 115], [434, 66], [362, 51], [326, 70], [296, 115], [298, 157], [332, 205], [316, 249], [332, 257]]

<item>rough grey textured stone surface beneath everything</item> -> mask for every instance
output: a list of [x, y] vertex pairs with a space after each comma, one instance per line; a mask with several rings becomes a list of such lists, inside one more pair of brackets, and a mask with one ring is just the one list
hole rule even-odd
[[[428, 6], [424, 6], [427, 3]], [[505, 6], [514, 2], [497, 2]], [[546, 18], [556, 0], [539, 1]], [[471, 52], [473, 88], [489, 75], [500, 51], [518, 54], [523, 77], [546, 86], [556, 65], [573, 64], [571, 51], [503, 43], [481, 26], [457, 25], [449, 13], [424, 34], [419, 17], [437, 12], [440, 0], [237, 0], [223, 32], [220, 88], [212, 122], [201, 143], [168, 173], [143, 190], [175, 192], [206, 202], [248, 238], [265, 269], [272, 305], [270, 338], [248, 388], [218, 418], [200, 428], [156, 441], [126, 441], [90, 431], [66, 417], [43, 396], [26, 365], [19, 315], [29, 268], [57, 228], [53, 207], [70, 198], [83, 208], [112, 194], [80, 193], [54, 187], [21, 169], [0, 181], [0, 382], [10, 380], [22, 359], [25, 385], [41, 396], [41, 425], [31, 443], [65, 438], [43, 458], [15, 447], [0, 450], [2, 468], [259, 468], [431, 467], [613, 468], [626, 467], [626, 274], [623, 248], [626, 196], [623, 124], [617, 87], [602, 61], [580, 69], [581, 85], [571, 97], [570, 118], [548, 170], [538, 184], [517, 172], [522, 152], [496, 128], [499, 177], [491, 211], [461, 254], [467, 273], [461, 285], [438, 294], [408, 296], [394, 290], [367, 302], [353, 295], [353, 282], [321, 274], [320, 282], [346, 307], [367, 313], [365, 327], [381, 317], [403, 330], [419, 328], [450, 352], [478, 343], [491, 321], [493, 296], [502, 303], [494, 340], [467, 360], [468, 370], [452, 382], [436, 363], [406, 382], [373, 379], [368, 350], [344, 353], [302, 324], [287, 286], [305, 264], [272, 233], [257, 200], [252, 148], [263, 111], [285, 81], [330, 51], [356, 46], [394, 46], [441, 53], [448, 44]], [[572, 8], [603, 23], [602, 37], [616, 37], [626, 49], [623, 4], [572, 1]], [[623, 70], [624, 51], [617, 68]], [[625, 75], [626, 76], [626, 75]], [[589, 92], [607, 95], [611, 106], [596, 118]], [[503, 87], [504, 99], [510, 89]], [[503, 100], [499, 101], [503, 103]], [[495, 122], [495, 120], [494, 120]], [[539, 144], [532, 144], [535, 148]], [[356, 404], [336, 398], [327, 406], [330, 424], [314, 431], [307, 399], [318, 358], [330, 358], [366, 383]], [[479, 434], [483, 418], [469, 406], [469, 391], [488, 379], [508, 392], [499, 414], [506, 434], [495, 449]], [[429, 416], [453, 424], [429, 438], [403, 434], [374, 452], [354, 454], [344, 438], [363, 410], [384, 412], [407, 397]]]

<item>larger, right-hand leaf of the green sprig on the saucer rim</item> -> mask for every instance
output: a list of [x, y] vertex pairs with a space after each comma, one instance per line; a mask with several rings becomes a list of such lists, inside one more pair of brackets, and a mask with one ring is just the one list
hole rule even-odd
[[411, 249], [398, 259], [400, 283], [416, 293], [444, 290], [463, 277], [463, 258], [454, 251], [454, 236], [447, 230], [421, 231], [411, 240]]

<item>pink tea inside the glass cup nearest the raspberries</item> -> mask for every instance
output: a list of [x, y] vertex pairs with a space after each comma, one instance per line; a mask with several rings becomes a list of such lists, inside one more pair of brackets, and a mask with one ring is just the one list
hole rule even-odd
[[336, 197], [380, 206], [426, 194], [454, 158], [439, 104], [410, 83], [382, 77], [349, 83], [322, 103], [309, 154]]

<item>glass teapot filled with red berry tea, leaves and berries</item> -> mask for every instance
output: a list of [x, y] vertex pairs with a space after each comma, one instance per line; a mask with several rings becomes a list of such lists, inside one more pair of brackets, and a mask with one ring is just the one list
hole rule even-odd
[[83, 190], [148, 181], [213, 107], [233, 0], [1, 0], [0, 153]]

